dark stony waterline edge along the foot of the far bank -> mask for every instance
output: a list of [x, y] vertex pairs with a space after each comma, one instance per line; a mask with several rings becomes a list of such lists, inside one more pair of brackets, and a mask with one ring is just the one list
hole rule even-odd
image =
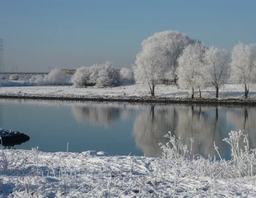
[[158, 104], [239, 104], [256, 106], [256, 98], [170, 98], [162, 96], [35, 96], [32, 94], [0, 94], [0, 98], [31, 99], [31, 100], [73, 100], [95, 102], [133, 102], [133, 103], [158, 103]]

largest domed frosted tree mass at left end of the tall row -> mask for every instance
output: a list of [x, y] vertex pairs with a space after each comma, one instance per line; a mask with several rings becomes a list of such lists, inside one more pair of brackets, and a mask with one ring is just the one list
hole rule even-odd
[[178, 57], [192, 43], [186, 34], [174, 31], [157, 32], [144, 40], [133, 67], [136, 82], [148, 84], [151, 96], [155, 96], [155, 85], [160, 81], [176, 81]]

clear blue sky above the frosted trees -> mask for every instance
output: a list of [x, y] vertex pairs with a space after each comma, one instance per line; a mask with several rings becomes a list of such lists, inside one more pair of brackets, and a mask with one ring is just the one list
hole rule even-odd
[[255, 9], [255, 0], [0, 0], [5, 71], [131, 67], [141, 42], [163, 30], [231, 51], [256, 43]]

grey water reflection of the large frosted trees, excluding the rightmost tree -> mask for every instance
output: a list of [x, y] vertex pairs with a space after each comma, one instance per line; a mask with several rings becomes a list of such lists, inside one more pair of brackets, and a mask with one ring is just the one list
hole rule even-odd
[[222, 141], [226, 125], [220, 119], [218, 107], [201, 106], [151, 106], [149, 113], [135, 118], [133, 133], [136, 144], [147, 156], [160, 156], [159, 143], [168, 141], [164, 135], [168, 131], [180, 137], [182, 144], [190, 145], [194, 138], [192, 153], [203, 156], [216, 155], [214, 141], [220, 150], [227, 150]]

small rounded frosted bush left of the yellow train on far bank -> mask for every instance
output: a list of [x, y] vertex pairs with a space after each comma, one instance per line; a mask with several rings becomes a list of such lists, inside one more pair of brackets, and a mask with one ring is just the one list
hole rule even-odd
[[67, 84], [70, 81], [68, 74], [56, 68], [52, 69], [52, 71], [50, 71], [50, 73], [44, 78], [45, 81], [48, 81], [49, 84]]

